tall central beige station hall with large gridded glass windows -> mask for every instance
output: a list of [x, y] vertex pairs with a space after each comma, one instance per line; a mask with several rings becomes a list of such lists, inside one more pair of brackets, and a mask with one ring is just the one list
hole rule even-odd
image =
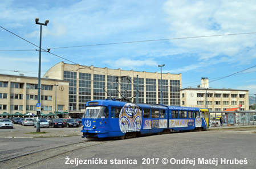
[[[156, 70], [160, 68], [156, 67]], [[69, 86], [69, 112], [79, 113], [86, 106], [87, 101], [109, 98], [103, 88], [112, 97], [120, 98], [117, 92], [128, 92], [125, 97], [133, 97], [136, 88], [132, 84], [124, 83], [121, 88], [115, 81], [116, 76], [129, 76], [134, 85], [138, 86], [139, 97], [132, 98], [134, 102], [160, 104], [161, 103], [161, 73], [124, 71], [121, 69], [97, 68], [79, 64], [66, 64], [60, 62], [50, 68], [44, 78], [68, 80]], [[162, 100], [166, 105], [180, 105], [181, 74], [162, 73]], [[78, 116], [78, 114], [76, 114]]]

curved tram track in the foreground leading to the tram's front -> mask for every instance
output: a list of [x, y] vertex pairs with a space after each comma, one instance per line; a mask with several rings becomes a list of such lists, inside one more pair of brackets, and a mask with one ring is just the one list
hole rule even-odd
[[76, 150], [86, 149], [87, 147], [97, 146], [111, 141], [82, 141], [70, 143], [58, 147], [51, 147], [39, 151], [29, 152], [23, 155], [0, 160], [1, 168], [28, 168], [36, 163], [55, 158], [57, 156], [74, 152]]

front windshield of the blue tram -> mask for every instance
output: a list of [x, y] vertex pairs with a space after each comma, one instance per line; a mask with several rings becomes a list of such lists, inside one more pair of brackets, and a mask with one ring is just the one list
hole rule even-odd
[[108, 108], [104, 106], [90, 106], [86, 108], [83, 118], [107, 118]]

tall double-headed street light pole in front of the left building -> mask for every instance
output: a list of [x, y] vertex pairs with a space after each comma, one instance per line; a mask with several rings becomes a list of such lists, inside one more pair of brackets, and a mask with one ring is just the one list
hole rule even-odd
[[[38, 67], [38, 104], [40, 104], [40, 89], [41, 89], [41, 43], [42, 43], [42, 25], [47, 26], [49, 20], [46, 19], [44, 23], [39, 23], [39, 18], [35, 18], [35, 24], [40, 24], [40, 43], [39, 43], [39, 67]], [[38, 118], [36, 133], [40, 133], [40, 111], [36, 111]]]

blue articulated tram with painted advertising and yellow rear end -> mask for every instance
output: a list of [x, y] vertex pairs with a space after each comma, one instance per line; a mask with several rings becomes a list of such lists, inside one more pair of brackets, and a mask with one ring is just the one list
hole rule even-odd
[[119, 137], [170, 131], [201, 131], [209, 125], [208, 109], [95, 100], [86, 104], [83, 138]]

